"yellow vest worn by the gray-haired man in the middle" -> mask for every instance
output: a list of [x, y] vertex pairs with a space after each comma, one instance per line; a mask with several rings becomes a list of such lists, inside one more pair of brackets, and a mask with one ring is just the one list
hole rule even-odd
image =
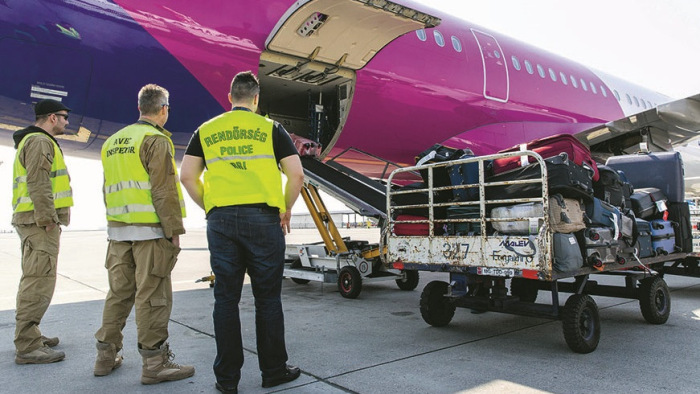
[[[151, 177], [141, 163], [141, 144], [146, 136], [160, 135], [149, 124], [127, 126], [105, 141], [102, 145], [102, 166], [105, 172], [104, 195], [107, 220], [122, 223], [160, 223], [151, 194]], [[175, 146], [172, 140], [170, 153], [174, 157]], [[177, 177], [177, 166], [173, 159], [173, 169]], [[182, 217], [185, 217], [185, 201], [182, 198], [180, 182], [177, 182], [177, 195]]]

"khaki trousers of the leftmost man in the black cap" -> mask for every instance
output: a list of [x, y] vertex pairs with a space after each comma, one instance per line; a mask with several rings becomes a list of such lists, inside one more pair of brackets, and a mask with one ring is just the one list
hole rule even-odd
[[61, 227], [51, 231], [34, 224], [16, 225], [22, 244], [22, 278], [17, 290], [15, 348], [27, 353], [43, 346], [39, 323], [56, 288]]

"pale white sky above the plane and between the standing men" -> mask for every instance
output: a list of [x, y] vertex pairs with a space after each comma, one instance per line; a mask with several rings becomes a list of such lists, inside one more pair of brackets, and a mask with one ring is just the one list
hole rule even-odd
[[[700, 93], [700, 2], [697, 0], [423, 0], [486, 29], [503, 33], [674, 98]], [[0, 147], [0, 185], [11, 185], [14, 149]], [[66, 157], [74, 188], [70, 229], [106, 225], [98, 161]], [[0, 231], [12, 216], [11, 188], [0, 187]], [[325, 198], [330, 210], [342, 205]], [[205, 225], [187, 201], [186, 228]], [[301, 199], [293, 212], [304, 212]]]

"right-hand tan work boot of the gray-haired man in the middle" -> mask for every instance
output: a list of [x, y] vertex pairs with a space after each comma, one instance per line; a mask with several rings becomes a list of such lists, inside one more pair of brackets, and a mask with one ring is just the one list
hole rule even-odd
[[139, 349], [139, 353], [143, 358], [141, 371], [141, 383], [143, 384], [186, 379], [194, 375], [193, 366], [179, 365], [172, 361], [175, 355], [170, 351], [167, 342], [161, 345], [160, 349]]

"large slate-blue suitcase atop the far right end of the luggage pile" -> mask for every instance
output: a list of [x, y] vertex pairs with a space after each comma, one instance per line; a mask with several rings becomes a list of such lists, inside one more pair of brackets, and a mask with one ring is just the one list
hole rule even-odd
[[679, 152], [612, 156], [605, 164], [624, 171], [635, 188], [655, 187], [668, 201], [685, 201], [683, 159]]

